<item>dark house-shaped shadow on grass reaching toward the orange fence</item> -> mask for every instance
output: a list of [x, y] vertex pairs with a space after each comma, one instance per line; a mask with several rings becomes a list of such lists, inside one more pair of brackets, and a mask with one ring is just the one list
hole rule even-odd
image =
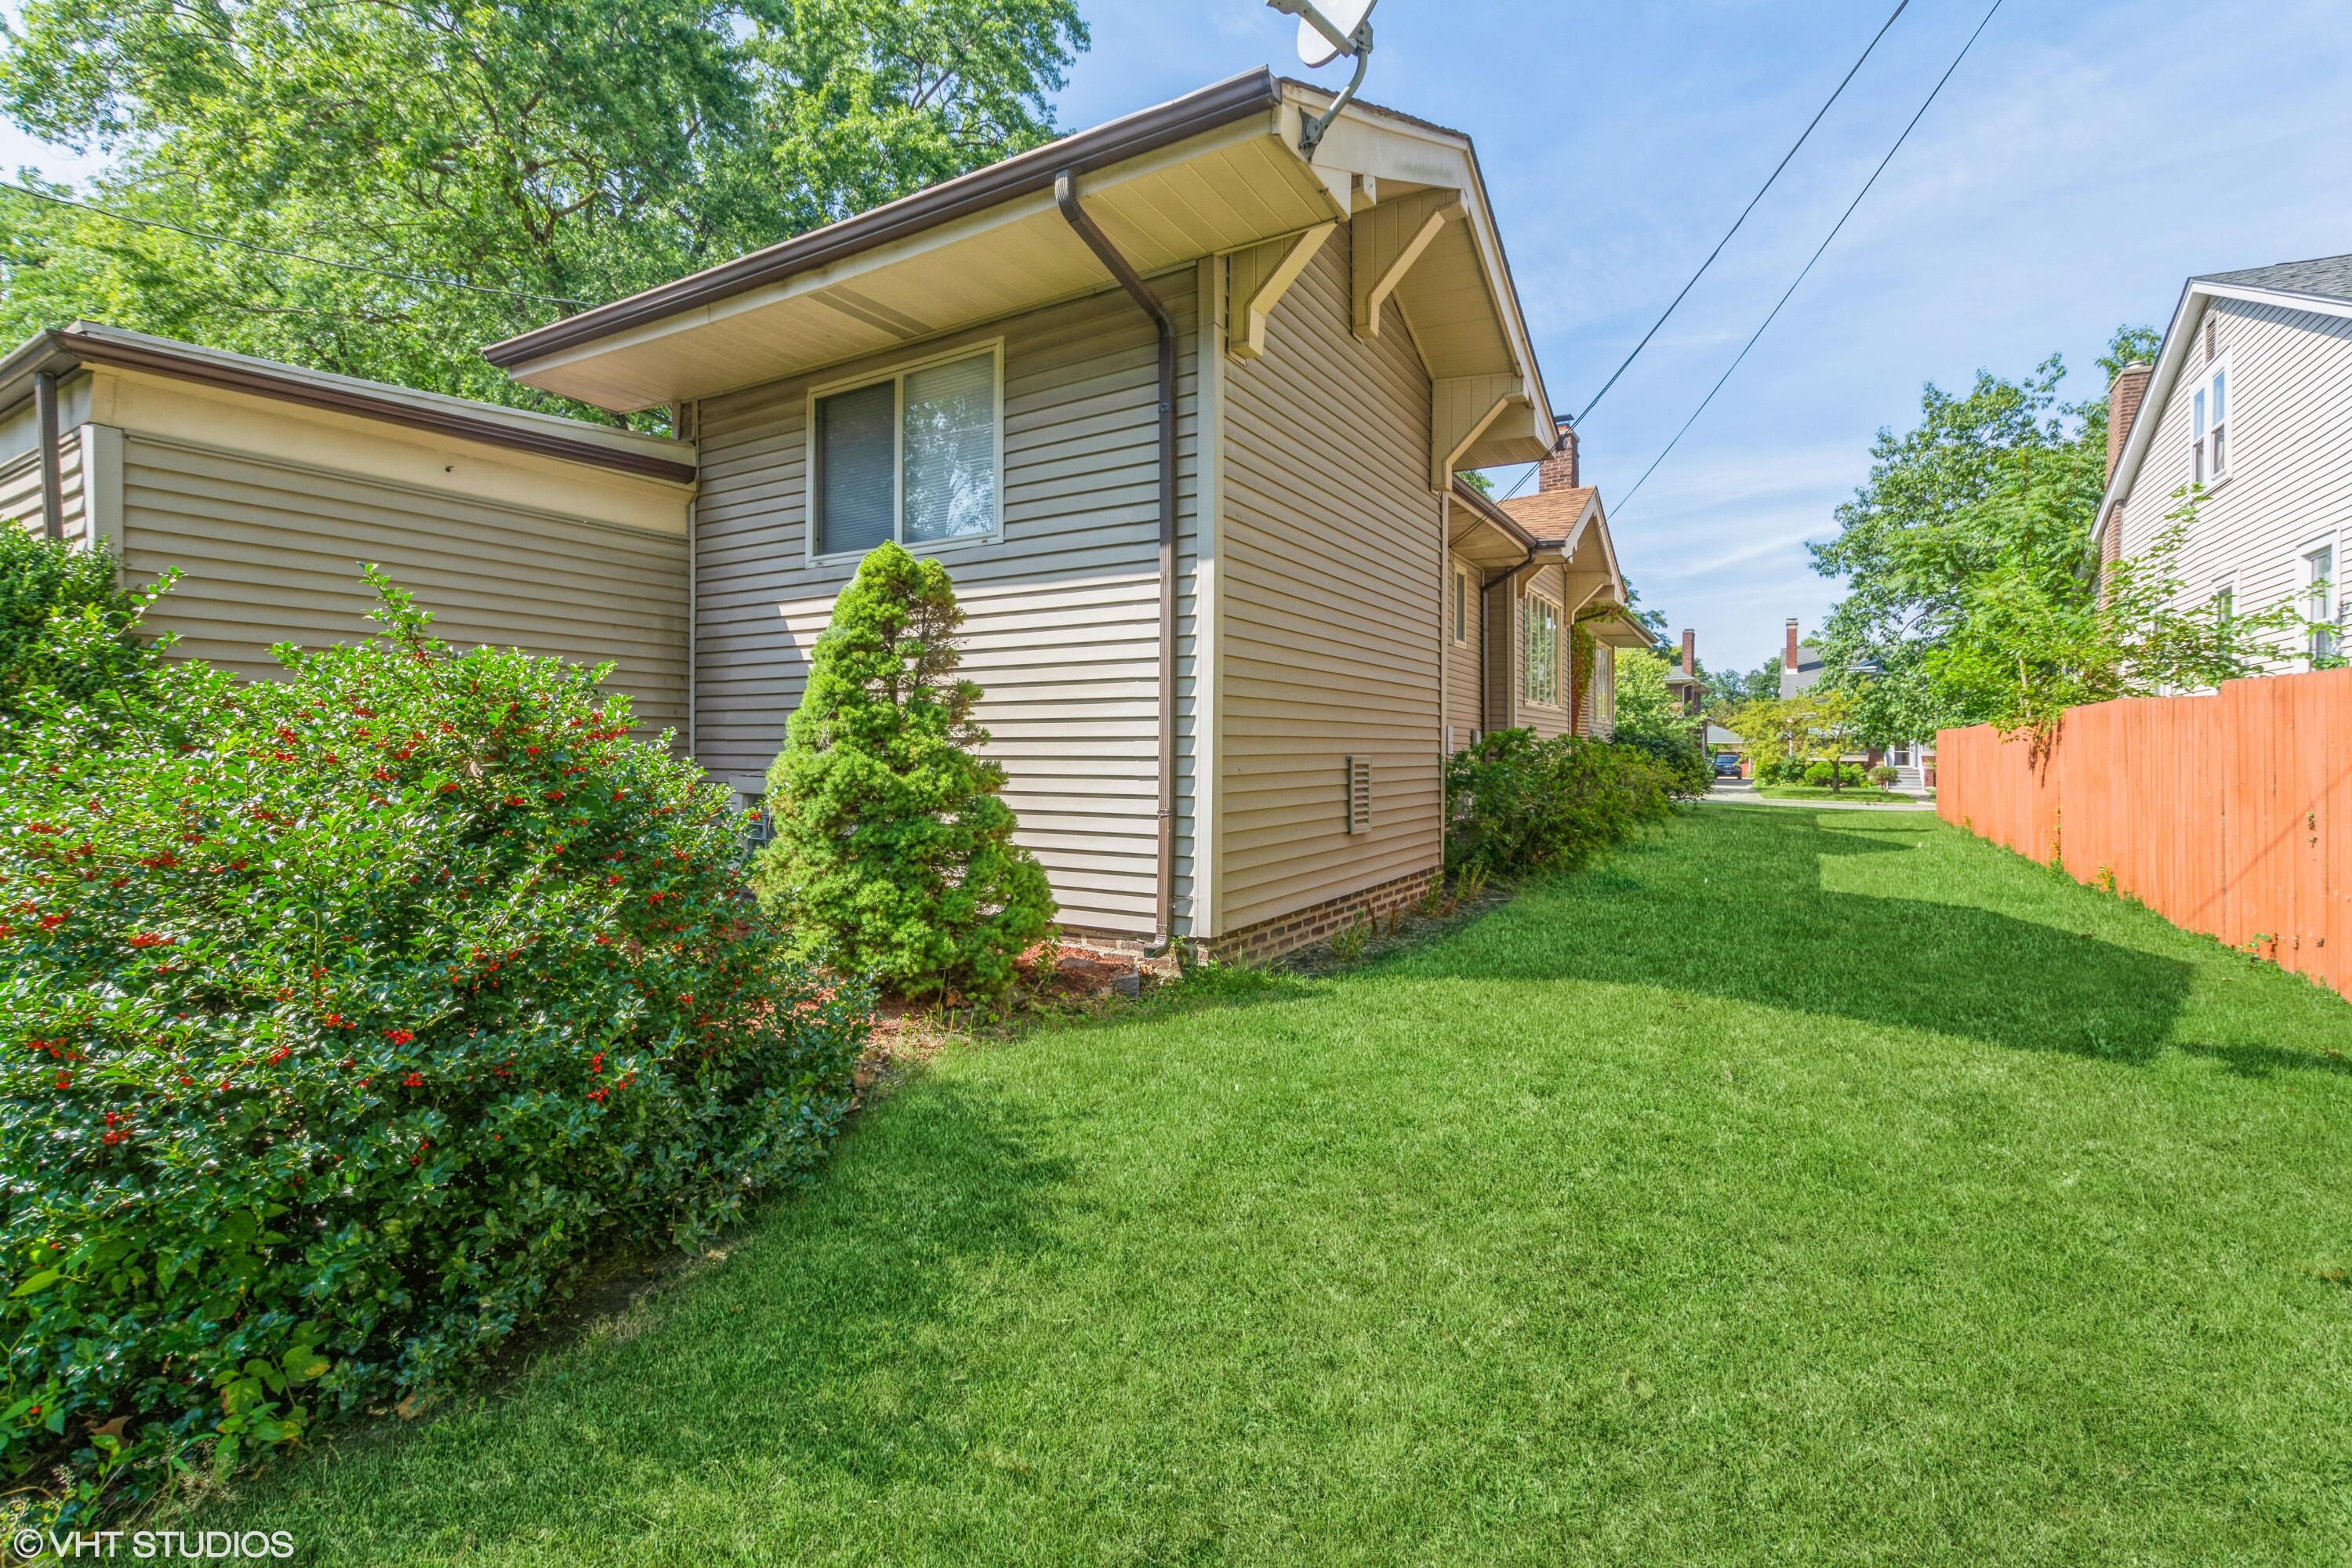
[[[1536, 940], [1446, 940], [1402, 969], [1665, 985], [2136, 1065], [2169, 1048], [2190, 964], [1978, 903], [1900, 896], [1903, 858], [1933, 823], [1889, 813], [1825, 827], [1780, 806], [1715, 806], [1705, 832], [1717, 837], [1705, 853], [1618, 856], [1538, 891], [1522, 914]], [[1830, 865], [1856, 858], [1884, 860], [1865, 877], [1889, 893], [1823, 886], [1851, 884]]]

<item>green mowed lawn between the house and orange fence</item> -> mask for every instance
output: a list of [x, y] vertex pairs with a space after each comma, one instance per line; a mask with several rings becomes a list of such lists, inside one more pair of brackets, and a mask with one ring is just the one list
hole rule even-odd
[[946, 1053], [508, 1389], [198, 1523], [402, 1563], [2343, 1563], [2352, 1006], [1710, 806], [1336, 980]]

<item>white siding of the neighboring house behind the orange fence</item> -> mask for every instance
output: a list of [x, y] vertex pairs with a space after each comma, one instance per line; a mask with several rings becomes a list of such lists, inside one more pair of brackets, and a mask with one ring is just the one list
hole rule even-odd
[[[2303, 595], [2303, 555], [2336, 550], [2336, 595], [2352, 585], [2352, 320], [2288, 306], [2216, 299], [2206, 308], [2216, 348], [2230, 357], [2230, 477], [2197, 508], [2176, 569], [2180, 597], [2204, 602], [2220, 576], [2237, 607], [2256, 614]], [[2206, 378], [2204, 322], [2150, 437], [2122, 517], [2122, 552], [2140, 555], [2190, 482], [2190, 400]], [[2303, 668], [2300, 639], [2281, 646], [2281, 670]]]

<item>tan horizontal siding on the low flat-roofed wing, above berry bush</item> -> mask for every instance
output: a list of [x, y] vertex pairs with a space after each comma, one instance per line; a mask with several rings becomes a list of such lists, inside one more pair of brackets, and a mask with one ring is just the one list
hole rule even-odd
[[181, 571], [148, 628], [238, 675], [275, 677], [273, 642], [367, 637], [374, 562], [452, 644], [614, 661], [642, 731], [684, 726], [684, 538], [141, 435], [122, 442], [122, 534], [129, 583]]

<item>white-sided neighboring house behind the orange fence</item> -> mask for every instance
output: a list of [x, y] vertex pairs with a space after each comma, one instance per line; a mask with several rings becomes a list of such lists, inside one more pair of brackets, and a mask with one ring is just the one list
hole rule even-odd
[[2107, 397], [2100, 562], [2145, 552], [2201, 487], [2183, 599], [2293, 604], [2274, 670], [2333, 658], [2352, 614], [2352, 256], [2190, 277], [2157, 362]]

